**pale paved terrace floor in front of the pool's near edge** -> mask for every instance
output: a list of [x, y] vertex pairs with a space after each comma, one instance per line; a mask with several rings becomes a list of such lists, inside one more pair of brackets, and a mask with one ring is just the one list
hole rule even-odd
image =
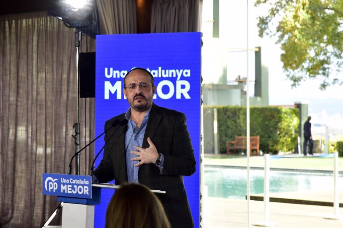
[[[247, 200], [208, 197], [207, 205], [204, 228], [248, 228]], [[269, 221], [277, 223], [277, 228], [343, 228], [343, 220], [325, 219], [335, 215], [333, 207], [273, 202], [269, 207]], [[263, 202], [251, 200], [249, 208], [249, 228], [256, 228], [254, 224], [264, 222]], [[339, 214], [343, 215], [343, 208]]]

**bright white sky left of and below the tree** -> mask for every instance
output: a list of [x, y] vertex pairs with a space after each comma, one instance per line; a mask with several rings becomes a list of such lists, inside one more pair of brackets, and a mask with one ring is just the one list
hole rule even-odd
[[[210, 28], [208, 22], [212, 19], [212, 5], [209, 0], [203, 1], [202, 31], [206, 38], [206, 28]], [[343, 86], [330, 86], [325, 91], [319, 89], [319, 80], [307, 80], [302, 82], [297, 88], [291, 88], [289, 81], [282, 71], [282, 62], [280, 61], [281, 50], [279, 45], [275, 44], [276, 38], [259, 38], [257, 31], [257, 16], [265, 13], [267, 8], [256, 8], [254, 1], [248, 1], [249, 8], [247, 12], [247, 1], [242, 0], [219, 0], [219, 24], [220, 24], [220, 42], [227, 48], [227, 55], [234, 59], [230, 65], [228, 60], [228, 75], [232, 67], [242, 70], [247, 74], [247, 55], [238, 50], [261, 47], [262, 64], [268, 67], [269, 74], [269, 105], [294, 105], [297, 102], [307, 103], [309, 105], [309, 115], [312, 116], [312, 123], [316, 125], [328, 125], [330, 128], [340, 129], [343, 135]], [[247, 25], [247, 14], [249, 24]], [[248, 28], [247, 28], [248, 26]], [[211, 29], [207, 30], [210, 31]], [[247, 37], [249, 40], [247, 41]], [[254, 53], [254, 52], [252, 52]], [[254, 80], [254, 54], [249, 54], [249, 78]], [[242, 58], [242, 59], [241, 59]], [[231, 68], [230, 68], [231, 67]], [[234, 70], [233, 70], [234, 71]], [[234, 80], [237, 72], [228, 76], [228, 80]], [[252, 86], [250, 86], [251, 88]]]

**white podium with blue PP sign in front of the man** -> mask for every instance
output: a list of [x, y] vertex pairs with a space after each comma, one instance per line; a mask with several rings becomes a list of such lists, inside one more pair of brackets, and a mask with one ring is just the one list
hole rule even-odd
[[[94, 228], [94, 209], [95, 204], [100, 204], [102, 188], [117, 189], [120, 185], [92, 183], [91, 177], [84, 175], [43, 173], [43, 194], [55, 195], [57, 201], [61, 202], [54, 214], [63, 207], [62, 228]], [[151, 191], [166, 193], [161, 190]], [[48, 226], [51, 222], [49, 220], [43, 228], [52, 228]]]

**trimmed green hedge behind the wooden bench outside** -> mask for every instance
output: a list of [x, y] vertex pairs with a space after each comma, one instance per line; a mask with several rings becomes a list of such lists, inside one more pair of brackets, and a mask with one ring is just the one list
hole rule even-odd
[[[217, 109], [219, 149], [226, 153], [226, 141], [235, 136], [246, 136], [247, 109], [236, 106], [205, 106]], [[260, 136], [259, 148], [264, 153], [294, 151], [297, 144], [299, 110], [278, 107], [250, 108], [250, 135]]]

